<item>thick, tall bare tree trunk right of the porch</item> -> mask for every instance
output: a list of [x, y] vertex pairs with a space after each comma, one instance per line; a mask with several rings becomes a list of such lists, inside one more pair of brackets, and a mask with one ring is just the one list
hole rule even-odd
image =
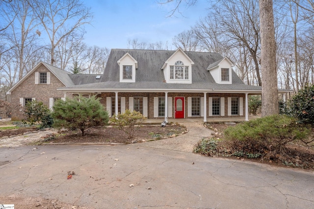
[[279, 114], [273, 1], [260, 0], [262, 116]]

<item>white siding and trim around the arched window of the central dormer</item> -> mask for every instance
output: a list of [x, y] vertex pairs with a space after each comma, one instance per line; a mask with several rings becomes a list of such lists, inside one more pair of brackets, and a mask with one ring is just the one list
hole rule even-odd
[[[174, 66], [176, 62], [183, 62], [184, 66], [188, 67], [188, 79], [170, 79], [170, 66]], [[192, 83], [192, 65], [194, 62], [179, 48], [175, 51], [162, 66], [165, 81], [167, 83]]]

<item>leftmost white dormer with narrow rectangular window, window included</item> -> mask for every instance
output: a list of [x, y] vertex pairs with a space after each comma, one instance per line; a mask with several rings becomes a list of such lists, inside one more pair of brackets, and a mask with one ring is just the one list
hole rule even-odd
[[138, 68], [137, 60], [127, 52], [117, 63], [120, 66], [120, 82], [135, 82], [135, 69]]

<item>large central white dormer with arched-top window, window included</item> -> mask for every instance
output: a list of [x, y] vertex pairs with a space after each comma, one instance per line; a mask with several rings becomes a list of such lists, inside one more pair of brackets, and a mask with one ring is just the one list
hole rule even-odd
[[178, 48], [162, 65], [161, 70], [167, 83], [192, 83], [193, 60]]

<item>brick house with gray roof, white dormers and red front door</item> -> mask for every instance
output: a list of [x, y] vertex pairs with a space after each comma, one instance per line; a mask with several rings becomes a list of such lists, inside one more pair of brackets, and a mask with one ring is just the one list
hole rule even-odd
[[262, 88], [245, 85], [233, 66], [228, 57], [210, 52], [111, 49], [103, 75], [71, 74], [40, 63], [8, 93], [12, 102], [45, 99], [51, 108], [55, 98], [97, 94], [109, 116], [130, 109], [166, 121], [248, 120], [248, 95], [261, 94]]

